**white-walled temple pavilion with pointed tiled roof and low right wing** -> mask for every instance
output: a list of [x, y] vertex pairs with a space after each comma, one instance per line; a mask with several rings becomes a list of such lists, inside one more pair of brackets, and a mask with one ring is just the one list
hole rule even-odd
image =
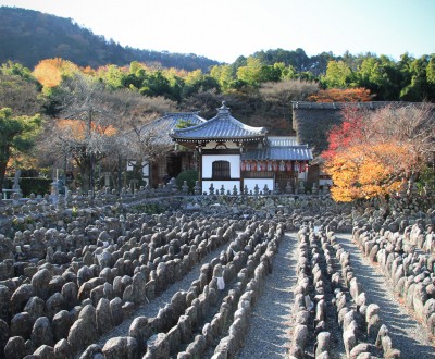
[[264, 127], [251, 127], [232, 116], [225, 101], [213, 119], [185, 128], [173, 127], [170, 137], [198, 159], [202, 193], [210, 187], [237, 193], [286, 190], [307, 182], [313, 159], [308, 145], [296, 137], [268, 136]]

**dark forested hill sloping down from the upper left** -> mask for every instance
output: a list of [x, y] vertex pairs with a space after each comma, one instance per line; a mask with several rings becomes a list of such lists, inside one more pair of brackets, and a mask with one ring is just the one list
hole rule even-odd
[[[144, 35], [146, 36], [146, 35]], [[132, 61], [158, 62], [164, 67], [208, 71], [219, 64], [196, 54], [158, 52], [122, 47], [80, 27], [71, 18], [20, 8], [0, 8], [0, 63], [8, 60], [33, 69], [40, 60], [62, 58], [80, 66]]]

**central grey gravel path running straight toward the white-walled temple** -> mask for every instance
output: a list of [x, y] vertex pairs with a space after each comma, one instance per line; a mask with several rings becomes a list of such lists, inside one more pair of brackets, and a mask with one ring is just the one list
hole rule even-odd
[[266, 277], [264, 290], [251, 318], [250, 329], [239, 359], [285, 358], [290, 343], [293, 288], [296, 285], [295, 234], [286, 233]]

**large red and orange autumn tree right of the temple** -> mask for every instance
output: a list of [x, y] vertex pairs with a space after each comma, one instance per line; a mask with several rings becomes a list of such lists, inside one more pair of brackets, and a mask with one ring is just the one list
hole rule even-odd
[[337, 201], [382, 199], [401, 191], [433, 158], [432, 106], [374, 111], [348, 106], [341, 114], [343, 123], [328, 133], [328, 148], [321, 154]]

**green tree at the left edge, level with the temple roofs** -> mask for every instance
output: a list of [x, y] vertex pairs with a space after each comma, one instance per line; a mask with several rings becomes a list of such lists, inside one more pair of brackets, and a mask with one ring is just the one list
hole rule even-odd
[[10, 108], [0, 110], [0, 191], [8, 164], [33, 147], [40, 125], [39, 114], [14, 116]]

